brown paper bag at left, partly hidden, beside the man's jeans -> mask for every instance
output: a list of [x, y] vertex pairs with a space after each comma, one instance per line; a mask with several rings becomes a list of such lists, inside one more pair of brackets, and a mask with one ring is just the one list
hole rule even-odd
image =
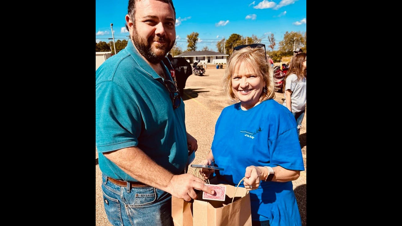
[[174, 226], [193, 226], [193, 203], [172, 196]]

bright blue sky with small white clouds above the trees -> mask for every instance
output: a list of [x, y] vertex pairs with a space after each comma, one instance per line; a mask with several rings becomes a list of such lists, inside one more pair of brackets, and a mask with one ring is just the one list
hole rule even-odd
[[[184, 51], [187, 35], [199, 33], [197, 50], [207, 46], [217, 51], [216, 43], [233, 33], [243, 37], [256, 35], [261, 43], [269, 45], [268, 37], [274, 34], [278, 49], [286, 31], [306, 31], [306, 0], [173, 0], [176, 10], [176, 42]], [[128, 40], [125, 15], [128, 0], [96, 0], [95, 39], [109, 42], [113, 23], [115, 41]], [[267, 50], [269, 48], [267, 47]]]

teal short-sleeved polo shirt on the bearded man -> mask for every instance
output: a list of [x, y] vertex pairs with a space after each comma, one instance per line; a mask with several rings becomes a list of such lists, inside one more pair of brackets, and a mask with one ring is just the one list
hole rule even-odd
[[137, 181], [103, 155], [132, 146], [174, 174], [184, 170], [188, 158], [184, 102], [180, 98], [180, 106], [173, 109], [163, 78], [131, 41], [96, 70], [95, 93], [96, 148], [103, 174]]

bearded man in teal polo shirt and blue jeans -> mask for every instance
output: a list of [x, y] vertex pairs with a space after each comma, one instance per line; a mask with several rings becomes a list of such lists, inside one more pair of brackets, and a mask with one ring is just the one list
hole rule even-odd
[[171, 0], [129, 0], [130, 40], [96, 70], [96, 149], [105, 211], [113, 225], [171, 226], [171, 195], [215, 191], [183, 174], [197, 140], [162, 59], [176, 37]]

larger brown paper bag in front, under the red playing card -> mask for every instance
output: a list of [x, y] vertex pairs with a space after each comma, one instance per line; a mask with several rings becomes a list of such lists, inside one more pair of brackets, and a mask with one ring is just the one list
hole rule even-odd
[[236, 187], [232, 185], [219, 185], [226, 186], [225, 201], [194, 200], [193, 224], [191, 225], [251, 226], [251, 203], [247, 189], [237, 186], [236, 190]]

